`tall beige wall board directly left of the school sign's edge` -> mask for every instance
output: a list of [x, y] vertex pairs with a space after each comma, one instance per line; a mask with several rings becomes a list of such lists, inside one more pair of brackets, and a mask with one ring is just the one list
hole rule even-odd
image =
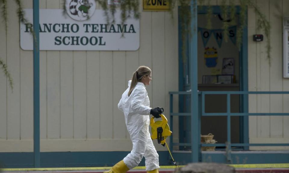
[[[20, 45], [19, 23], [15, 1], [7, 1], [7, 66], [14, 82], [14, 89], [7, 89], [7, 138], [20, 139]], [[15, 46], [17, 45], [17, 46]]]

